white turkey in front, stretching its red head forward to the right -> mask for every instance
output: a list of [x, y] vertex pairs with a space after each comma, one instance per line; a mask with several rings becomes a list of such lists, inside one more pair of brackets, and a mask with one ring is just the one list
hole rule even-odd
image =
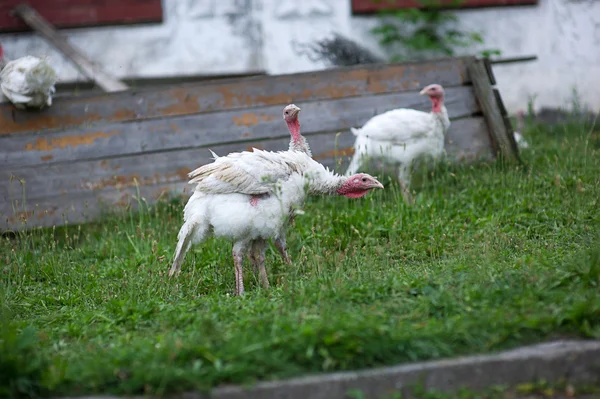
[[306, 195], [331, 194], [360, 198], [383, 185], [367, 174], [336, 175], [301, 151], [237, 152], [218, 157], [189, 174], [196, 183], [184, 209], [184, 224], [169, 276], [181, 269], [192, 243], [209, 234], [233, 241], [235, 294], [244, 293], [243, 257], [259, 270], [262, 285], [269, 286], [264, 254], [266, 241], [277, 239]]

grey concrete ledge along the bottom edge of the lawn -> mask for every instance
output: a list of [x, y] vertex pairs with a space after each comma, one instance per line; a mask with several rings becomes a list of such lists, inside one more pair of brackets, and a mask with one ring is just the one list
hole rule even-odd
[[[227, 386], [208, 393], [171, 396], [185, 399], [346, 399], [351, 390], [366, 398], [394, 392], [410, 397], [410, 388], [453, 392], [460, 388], [483, 390], [494, 385], [515, 386], [561, 378], [572, 383], [600, 380], [600, 341], [556, 341], [491, 355], [467, 356], [356, 372], [320, 374], [290, 380], [263, 382], [249, 388]], [[87, 396], [78, 399], [120, 399]]]

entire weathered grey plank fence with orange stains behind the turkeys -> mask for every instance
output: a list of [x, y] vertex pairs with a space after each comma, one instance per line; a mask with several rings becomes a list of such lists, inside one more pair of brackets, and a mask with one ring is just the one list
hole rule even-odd
[[[430, 109], [418, 91], [446, 89], [455, 159], [518, 158], [489, 64], [471, 57], [237, 78], [57, 99], [50, 109], [0, 105], [0, 229], [93, 220], [130, 203], [191, 188], [187, 173], [251, 147], [283, 150], [283, 107], [302, 108], [313, 156], [334, 167], [352, 155], [349, 128], [398, 107]], [[339, 169], [338, 165], [338, 170]]]

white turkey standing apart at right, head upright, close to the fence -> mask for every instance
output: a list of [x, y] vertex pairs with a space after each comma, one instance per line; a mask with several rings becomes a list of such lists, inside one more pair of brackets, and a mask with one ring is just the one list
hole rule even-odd
[[380, 159], [397, 168], [402, 194], [408, 202], [412, 202], [409, 187], [413, 161], [425, 155], [434, 159], [442, 155], [444, 138], [450, 127], [444, 105], [444, 88], [432, 84], [419, 94], [429, 96], [431, 112], [393, 109], [372, 117], [360, 129], [350, 129], [356, 141], [346, 175], [356, 173], [368, 159]]

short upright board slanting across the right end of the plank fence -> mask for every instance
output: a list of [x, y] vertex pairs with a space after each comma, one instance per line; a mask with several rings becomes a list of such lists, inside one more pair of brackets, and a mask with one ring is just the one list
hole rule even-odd
[[473, 81], [473, 89], [477, 96], [477, 101], [487, 122], [494, 150], [506, 160], [518, 160], [518, 153], [514, 151], [511, 145], [513, 132], [512, 130], [509, 131], [504, 124], [504, 118], [496, 102], [494, 90], [490, 85], [483, 61], [474, 60], [470, 62], [468, 70]]

